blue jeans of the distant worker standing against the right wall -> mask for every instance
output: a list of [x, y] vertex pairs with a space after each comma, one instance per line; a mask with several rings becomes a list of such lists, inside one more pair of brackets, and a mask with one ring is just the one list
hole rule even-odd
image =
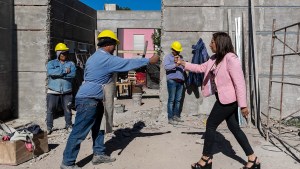
[[168, 87], [168, 119], [174, 116], [180, 117], [180, 104], [182, 98], [183, 82], [176, 82], [175, 80], [167, 80]]

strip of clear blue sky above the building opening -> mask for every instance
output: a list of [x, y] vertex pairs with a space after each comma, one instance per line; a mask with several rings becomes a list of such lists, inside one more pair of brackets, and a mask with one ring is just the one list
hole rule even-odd
[[103, 10], [104, 4], [117, 4], [131, 10], [161, 10], [161, 0], [80, 0], [86, 5]]

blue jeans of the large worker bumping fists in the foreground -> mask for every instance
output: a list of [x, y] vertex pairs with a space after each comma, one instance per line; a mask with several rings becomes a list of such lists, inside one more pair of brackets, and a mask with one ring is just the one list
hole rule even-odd
[[75, 99], [75, 105], [77, 110], [75, 123], [63, 154], [63, 164], [67, 166], [75, 164], [80, 144], [90, 130], [92, 130], [93, 153], [102, 154], [104, 151], [104, 133], [100, 132], [104, 112], [102, 100], [78, 98]]

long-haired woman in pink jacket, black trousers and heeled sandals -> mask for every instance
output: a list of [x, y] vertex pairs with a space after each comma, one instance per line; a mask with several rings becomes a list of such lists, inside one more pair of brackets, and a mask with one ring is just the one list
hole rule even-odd
[[185, 70], [205, 73], [202, 94], [205, 97], [216, 96], [216, 102], [207, 119], [203, 155], [197, 163], [192, 164], [192, 169], [211, 169], [216, 129], [224, 120], [248, 156], [248, 163], [243, 169], [260, 169], [260, 162], [238, 124], [238, 107], [241, 108], [245, 118], [249, 114], [241, 63], [234, 53], [231, 39], [227, 33], [214, 33], [209, 46], [215, 54], [207, 62], [201, 65], [183, 60], [177, 62], [183, 65]]

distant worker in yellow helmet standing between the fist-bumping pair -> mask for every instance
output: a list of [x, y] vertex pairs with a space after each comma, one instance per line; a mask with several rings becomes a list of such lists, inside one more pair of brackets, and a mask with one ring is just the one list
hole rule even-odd
[[180, 118], [180, 105], [184, 85], [184, 70], [183, 66], [177, 64], [178, 59], [182, 59], [182, 56], [179, 55], [181, 51], [181, 43], [174, 41], [171, 44], [171, 53], [164, 58], [168, 88], [168, 123], [172, 125], [183, 122]]

